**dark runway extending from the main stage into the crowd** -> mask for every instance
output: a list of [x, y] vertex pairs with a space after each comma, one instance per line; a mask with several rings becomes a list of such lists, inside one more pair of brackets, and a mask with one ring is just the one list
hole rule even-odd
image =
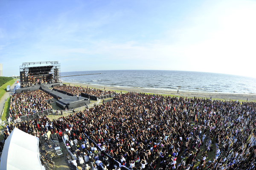
[[79, 96], [79, 100], [77, 100], [77, 96], [69, 96], [65, 95], [60, 92], [56, 92], [55, 90], [48, 89], [44, 86], [41, 86], [41, 90], [44, 92], [48, 93], [49, 95], [53, 96], [54, 98], [58, 99], [56, 101], [56, 105], [60, 107], [61, 109], [74, 109], [77, 107], [83, 107], [85, 104], [89, 105], [90, 104], [90, 99], [89, 98], [84, 98]]

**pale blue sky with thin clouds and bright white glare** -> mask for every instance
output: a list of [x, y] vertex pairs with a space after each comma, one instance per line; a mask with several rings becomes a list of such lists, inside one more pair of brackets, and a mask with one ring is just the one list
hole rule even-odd
[[1, 0], [3, 76], [160, 69], [256, 77], [255, 0]]

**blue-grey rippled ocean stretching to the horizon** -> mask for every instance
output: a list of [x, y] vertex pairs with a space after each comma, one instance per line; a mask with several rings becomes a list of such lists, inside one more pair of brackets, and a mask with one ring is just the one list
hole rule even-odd
[[[96, 74], [99, 75], [83, 75]], [[256, 78], [209, 72], [168, 70], [105, 70], [61, 72], [61, 81], [100, 86], [161, 89], [183, 92], [256, 94]]]

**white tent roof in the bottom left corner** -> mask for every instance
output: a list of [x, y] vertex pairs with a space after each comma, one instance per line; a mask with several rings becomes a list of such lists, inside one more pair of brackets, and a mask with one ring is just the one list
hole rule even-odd
[[3, 147], [1, 170], [43, 170], [39, 139], [18, 128], [12, 130]]

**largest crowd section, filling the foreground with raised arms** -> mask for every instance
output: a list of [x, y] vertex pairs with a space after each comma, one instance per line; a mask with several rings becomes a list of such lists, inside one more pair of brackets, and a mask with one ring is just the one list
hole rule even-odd
[[38, 137], [68, 131], [71, 152], [82, 154], [84, 164], [101, 162], [92, 164], [94, 170], [108, 168], [98, 151], [132, 170], [250, 170], [256, 162], [255, 109], [254, 102], [128, 92], [53, 121], [44, 116], [11, 124], [5, 138], [14, 127]]

